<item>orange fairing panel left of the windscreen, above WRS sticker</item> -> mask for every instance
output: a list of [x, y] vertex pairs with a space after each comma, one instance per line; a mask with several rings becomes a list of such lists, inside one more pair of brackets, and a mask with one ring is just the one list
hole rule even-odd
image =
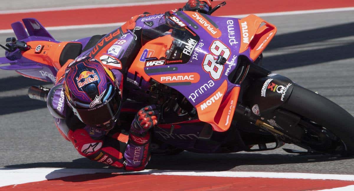
[[172, 46], [173, 37], [171, 35], [166, 35], [149, 41], [145, 44], [138, 53], [138, 56], [135, 58], [133, 64], [129, 68], [129, 72], [132, 74], [137, 73], [138, 77], [143, 77], [145, 81], [150, 81], [151, 77], [147, 75], [144, 71], [145, 62], [140, 61], [144, 50], [154, 50], [152, 51], [149, 57], [166, 57], [166, 51], [169, 50]]

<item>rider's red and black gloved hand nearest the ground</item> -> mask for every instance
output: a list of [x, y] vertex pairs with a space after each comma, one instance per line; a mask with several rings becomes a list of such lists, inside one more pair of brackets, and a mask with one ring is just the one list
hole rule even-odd
[[159, 111], [156, 109], [156, 105], [146, 106], [138, 111], [130, 130], [137, 135], [143, 135], [158, 124], [158, 116]]

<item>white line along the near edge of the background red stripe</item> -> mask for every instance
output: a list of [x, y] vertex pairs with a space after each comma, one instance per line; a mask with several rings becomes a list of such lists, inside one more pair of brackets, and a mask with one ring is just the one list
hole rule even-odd
[[[153, 1], [155, 2], [155, 1]], [[326, 13], [326, 12], [341, 12], [341, 11], [354, 11], [354, 7], [344, 7], [344, 8], [327, 8], [318, 10], [306, 10], [306, 11], [286, 11], [286, 12], [273, 12], [273, 13], [252, 13], [258, 17], [268, 17], [268, 16], [284, 16], [284, 15], [300, 15], [300, 14], [310, 14], [310, 13]], [[251, 13], [250, 13], [251, 14]], [[243, 18], [246, 15], [228, 15], [222, 17], [233, 17], [233, 18]], [[68, 25], [68, 26], [58, 26], [58, 27], [45, 27], [47, 30], [69, 30], [69, 29], [86, 29], [86, 28], [103, 28], [103, 27], [120, 27], [125, 22], [119, 23], [105, 23], [105, 24], [85, 24], [85, 25]], [[12, 29], [0, 30], [0, 34], [13, 33]]]

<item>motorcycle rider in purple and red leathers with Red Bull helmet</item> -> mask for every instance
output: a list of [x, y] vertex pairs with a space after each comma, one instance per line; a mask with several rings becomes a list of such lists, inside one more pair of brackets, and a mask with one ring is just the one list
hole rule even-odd
[[[189, 0], [180, 10], [208, 13], [211, 1]], [[65, 74], [58, 75], [47, 106], [58, 131], [82, 156], [125, 170], [143, 170], [147, 165], [149, 129], [158, 123], [159, 111], [155, 105], [145, 106], [130, 129], [121, 123], [123, 79], [142, 45], [173, 27], [168, 19], [172, 13], [132, 17], [105, 35], [103, 43], [63, 66]]]

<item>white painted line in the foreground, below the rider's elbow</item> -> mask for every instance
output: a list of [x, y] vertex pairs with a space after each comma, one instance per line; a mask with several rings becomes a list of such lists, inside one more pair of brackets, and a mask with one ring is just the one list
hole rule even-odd
[[182, 176], [219, 176], [219, 177], [257, 177], [257, 178], [287, 178], [287, 179], [322, 179], [354, 181], [354, 175], [341, 174], [310, 174], [310, 173], [276, 173], [276, 172], [204, 172], [204, 171], [177, 171], [177, 170], [143, 170], [127, 172], [121, 169], [70, 169], [70, 168], [28, 168], [13, 169], [0, 168], [0, 187], [14, 184], [24, 184], [34, 181], [55, 179], [65, 176], [93, 173], [121, 173], [121, 174], [152, 174], [152, 175], [182, 175]]

